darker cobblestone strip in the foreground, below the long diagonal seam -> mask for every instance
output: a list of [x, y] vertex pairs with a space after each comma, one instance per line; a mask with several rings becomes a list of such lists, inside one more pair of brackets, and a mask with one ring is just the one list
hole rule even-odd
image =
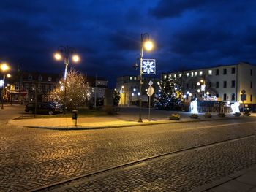
[[256, 164], [255, 148], [256, 137], [239, 139], [144, 161], [51, 191], [190, 191]]

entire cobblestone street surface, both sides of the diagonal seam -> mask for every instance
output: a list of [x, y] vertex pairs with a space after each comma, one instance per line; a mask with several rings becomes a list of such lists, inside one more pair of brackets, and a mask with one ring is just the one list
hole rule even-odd
[[[8, 117], [19, 110], [4, 110], [0, 113], [0, 191], [34, 191], [163, 153], [170, 154], [45, 191], [189, 191], [256, 164], [254, 117], [55, 131], [10, 126]], [[227, 139], [233, 140], [222, 142]], [[171, 153], [199, 145], [206, 146]]]

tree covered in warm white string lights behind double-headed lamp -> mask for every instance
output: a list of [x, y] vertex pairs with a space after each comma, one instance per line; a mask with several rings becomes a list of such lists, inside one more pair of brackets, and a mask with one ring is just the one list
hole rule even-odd
[[65, 105], [67, 109], [75, 109], [86, 103], [86, 99], [89, 99], [89, 85], [84, 79], [83, 75], [70, 69], [67, 73], [66, 83], [66, 98], [65, 98], [65, 80], [62, 79], [59, 86], [54, 93], [54, 99], [61, 104]]

